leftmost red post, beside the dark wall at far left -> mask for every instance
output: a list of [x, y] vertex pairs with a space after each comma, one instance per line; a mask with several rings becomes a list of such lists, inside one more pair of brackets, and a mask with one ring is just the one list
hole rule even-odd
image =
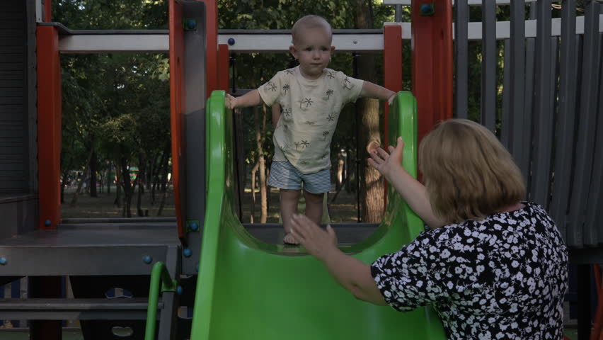
[[[50, 1], [49, 1], [50, 2]], [[36, 28], [38, 48], [38, 183], [40, 229], [61, 218], [61, 61], [54, 27]]]

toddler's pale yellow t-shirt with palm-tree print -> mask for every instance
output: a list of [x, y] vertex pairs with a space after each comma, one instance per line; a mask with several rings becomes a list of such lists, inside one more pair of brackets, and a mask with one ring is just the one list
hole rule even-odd
[[279, 103], [281, 115], [272, 140], [274, 161], [289, 161], [302, 174], [331, 167], [331, 139], [341, 108], [356, 101], [364, 81], [324, 69], [306, 79], [299, 66], [278, 72], [258, 91], [266, 105]]

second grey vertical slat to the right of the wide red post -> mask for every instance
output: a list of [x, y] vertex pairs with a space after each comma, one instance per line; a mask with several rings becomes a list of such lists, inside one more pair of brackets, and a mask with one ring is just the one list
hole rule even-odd
[[481, 7], [482, 61], [481, 61], [481, 123], [488, 130], [496, 130], [496, 6], [488, 2]]

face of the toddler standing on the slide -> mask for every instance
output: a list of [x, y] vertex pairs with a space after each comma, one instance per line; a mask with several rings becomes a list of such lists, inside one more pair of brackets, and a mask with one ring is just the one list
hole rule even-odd
[[331, 52], [335, 47], [331, 46], [331, 37], [325, 28], [304, 28], [301, 33], [289, 50], [299, 60], [302, 76], [317, 79], [331, 60]]

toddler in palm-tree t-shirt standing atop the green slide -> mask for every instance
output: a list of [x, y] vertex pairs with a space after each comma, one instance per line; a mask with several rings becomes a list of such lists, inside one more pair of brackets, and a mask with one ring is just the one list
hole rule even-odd
[[345, 103], [358, 96], [393, 100], [394, 91], [327, 69], [333, 30], [320, 16], [304, 16], [292, 28], [289, 51], [299, 66], [278, 72], [268, 83], [244, 96], [226, 96], [226, 108], [265, 103], [282, 108], [273, 140], [275, 155], [268, 185], [280, 188], [285, 244], [299, 244], [291, 234], [291, 217], [304, 184], [306, 216], [320, 222], [323, 195], [331, 190], [331, 138]]

